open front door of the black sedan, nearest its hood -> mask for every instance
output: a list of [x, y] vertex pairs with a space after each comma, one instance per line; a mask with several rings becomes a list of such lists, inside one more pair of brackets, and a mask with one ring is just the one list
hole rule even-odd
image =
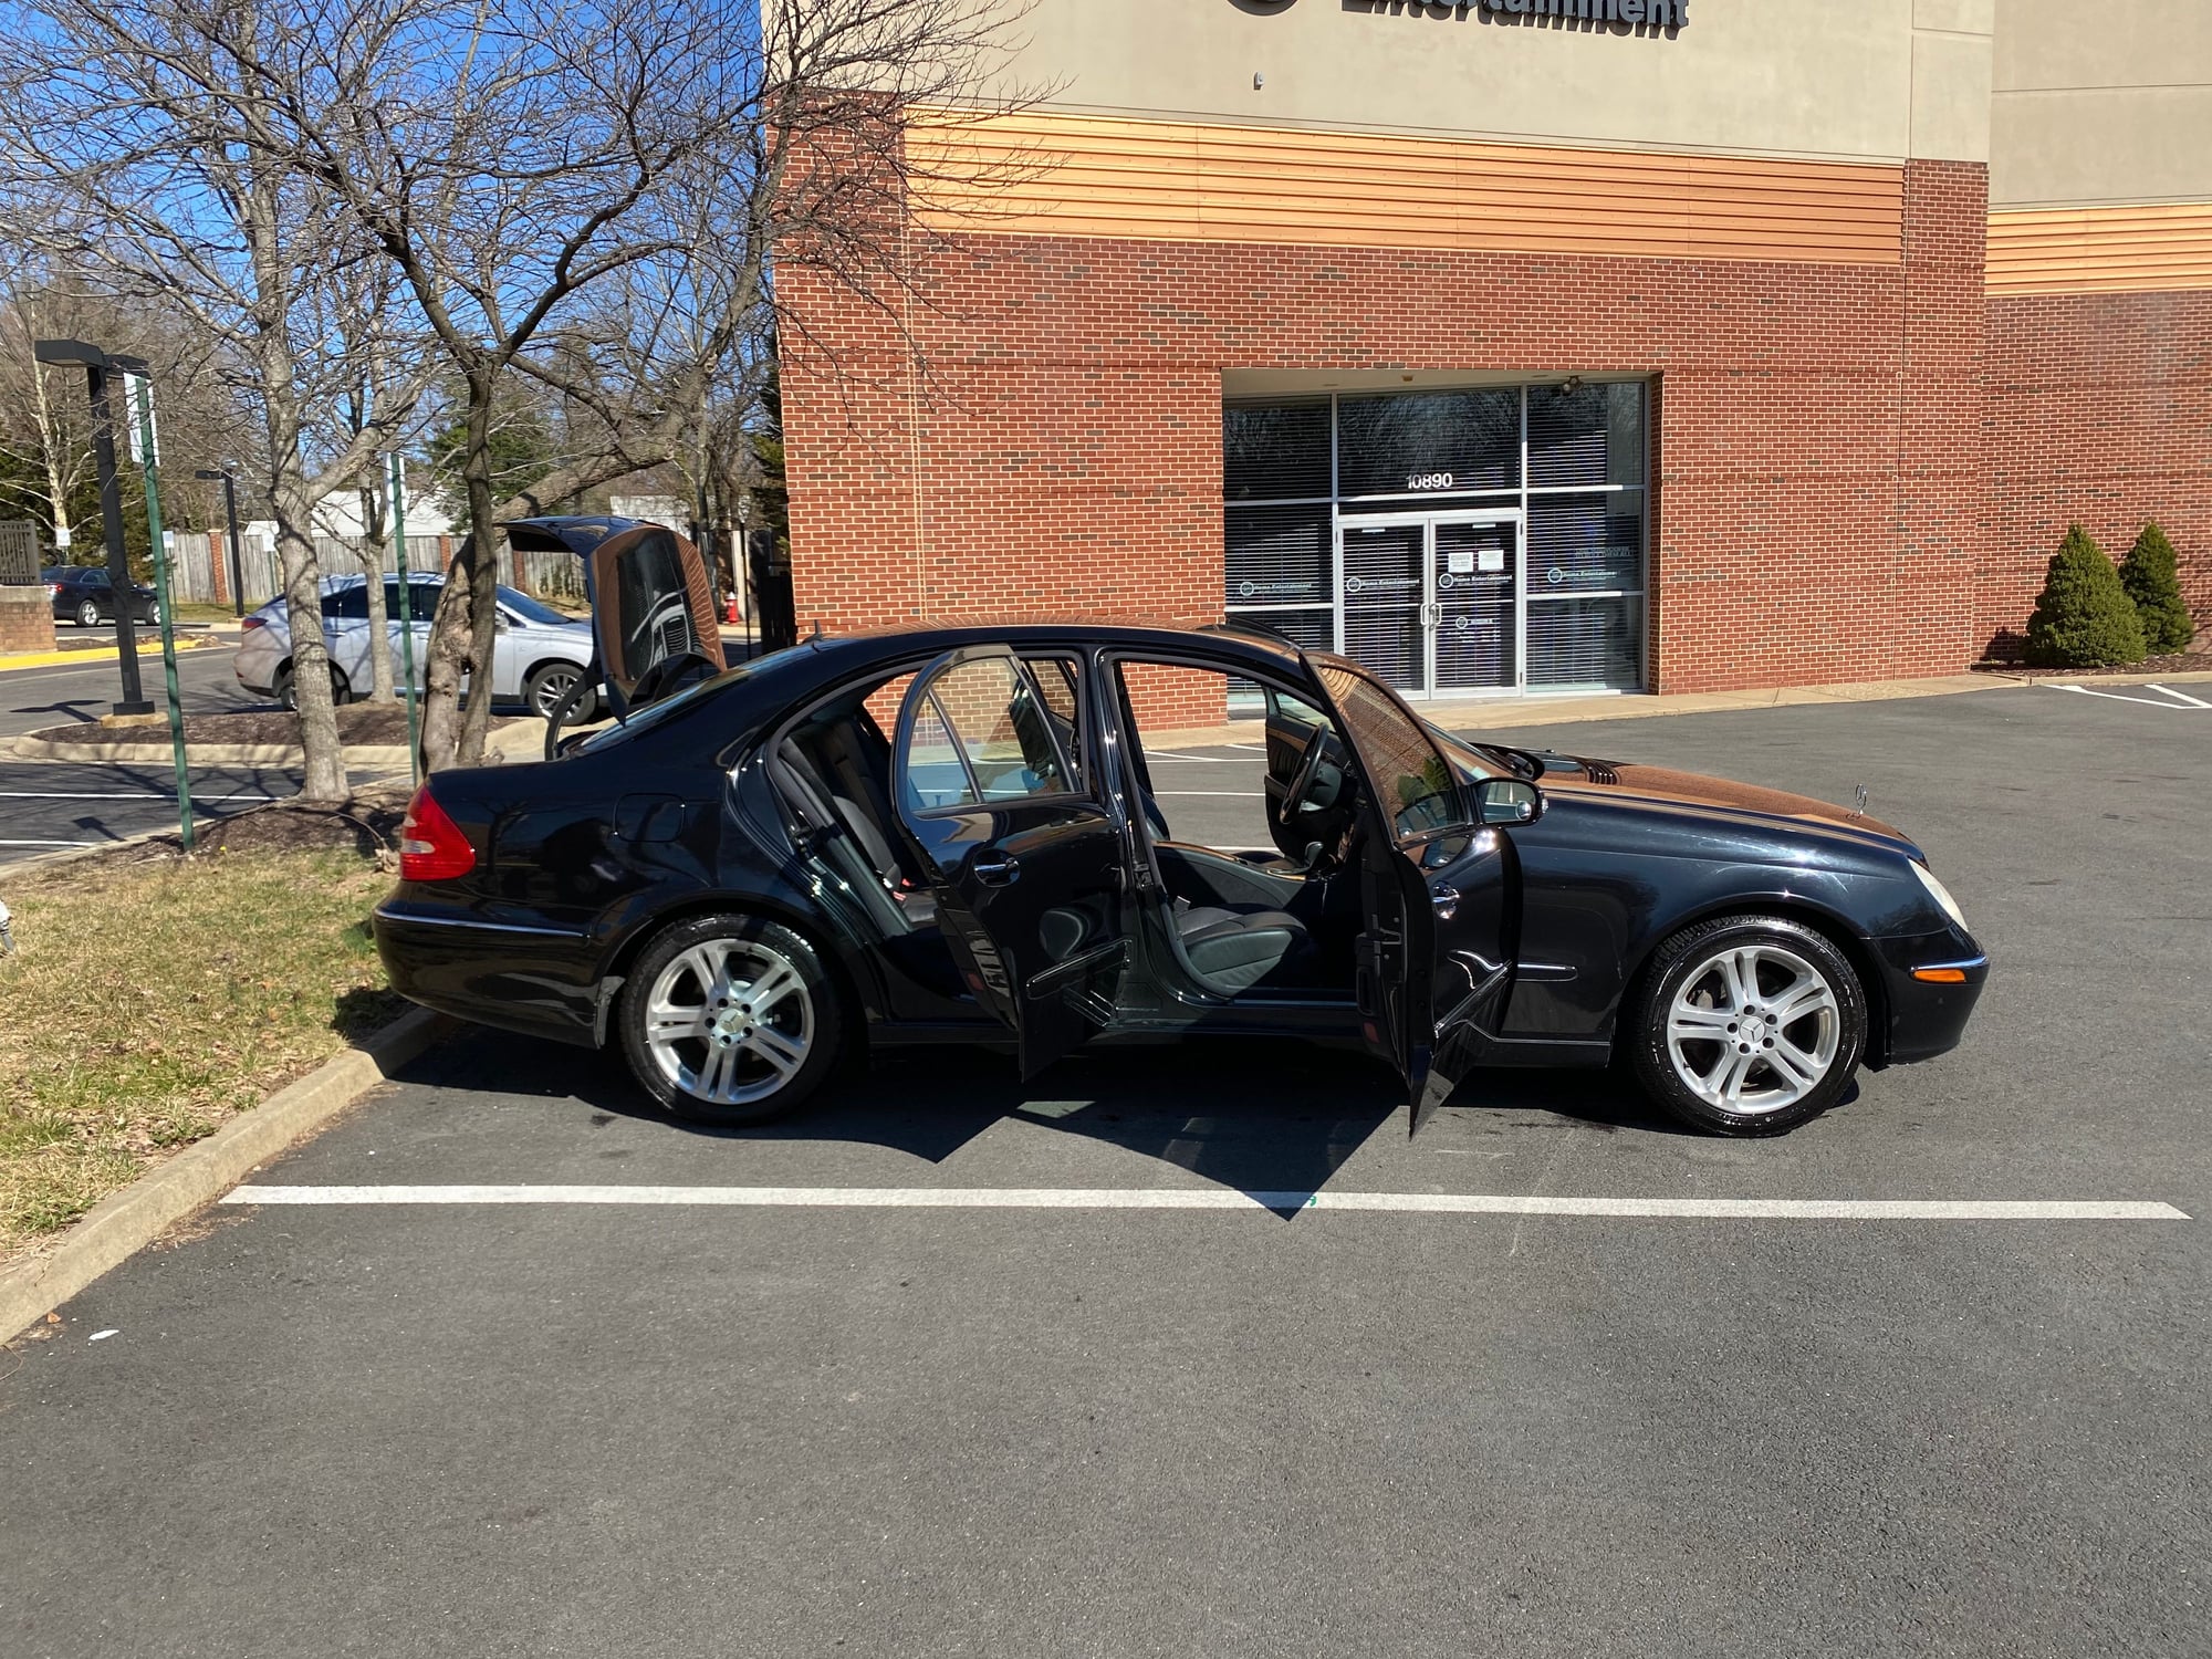
[[1367, 1042], [1405, 1075], [1420, 1130], [1498, 1029], [1511, 984], [1511, 847], [1478, 821], [1475, 792], [1405, 703], [1340, 657], [1307, 666], [1367, 776], [1360, 1015]]

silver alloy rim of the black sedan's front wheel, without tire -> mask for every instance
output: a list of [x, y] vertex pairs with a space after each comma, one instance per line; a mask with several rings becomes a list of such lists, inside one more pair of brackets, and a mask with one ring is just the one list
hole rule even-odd
[[1666, 1011], [1674, 1075], [1723, 1113], [1805, 1099], [1836, 1064], [1843, 1006], [1818, 967], [1781, 945], [1730, 945], [1699, 962]]

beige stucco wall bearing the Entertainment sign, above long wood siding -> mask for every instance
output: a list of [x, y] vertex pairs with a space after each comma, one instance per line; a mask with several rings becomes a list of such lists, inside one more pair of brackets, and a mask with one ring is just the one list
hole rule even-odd
[[1068, 113], [1980, 161], [1991, 2], [1688, 0], [1663, 35], [1405, 0], [1037, 0], [1015, 73]]

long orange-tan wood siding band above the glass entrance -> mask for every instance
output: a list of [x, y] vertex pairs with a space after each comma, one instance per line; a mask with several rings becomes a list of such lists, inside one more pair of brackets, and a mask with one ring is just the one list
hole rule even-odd
[[1893, 166], [1064, 115], [925, 115], [945, 232], [1896, 265]]

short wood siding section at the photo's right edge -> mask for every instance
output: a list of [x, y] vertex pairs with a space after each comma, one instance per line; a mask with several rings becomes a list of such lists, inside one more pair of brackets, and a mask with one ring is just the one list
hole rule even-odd
[[2212, 288], [2212, 204], [1989, 215], [1991, 294]]

